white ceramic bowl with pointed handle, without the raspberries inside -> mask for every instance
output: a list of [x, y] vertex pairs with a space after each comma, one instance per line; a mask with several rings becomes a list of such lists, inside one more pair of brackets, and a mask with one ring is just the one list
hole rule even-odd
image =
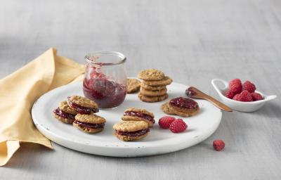
[[[218, 83], [223, 84], [224, 87], [220, 88], [218, 86]], [[211, 84], [214, 86], [214, 89], [216, 89], [216, 92], [220, 96], [222, 103], [228, 105], [233, 110], [238, 110], [241, 112], [254, 112], [256, 110], [259, 110], [259, 108], [261, 108], [267, 101], [276, 98], [275, 95], [267, 96], [266, 94], [262, 94], [261, 92], [256, 91], [257, 93], [261, 94], [261, 96], [263, 96], [263, 100], [253, 102], [235, 101], [224, 96], [226, 94], [226, 91], [228, 91], [228, 82], [223, 79], [212, 79]]]

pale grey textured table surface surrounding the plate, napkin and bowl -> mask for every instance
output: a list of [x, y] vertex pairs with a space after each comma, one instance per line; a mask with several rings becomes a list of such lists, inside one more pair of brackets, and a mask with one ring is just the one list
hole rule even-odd
[[[215, 97], [215, 77], [250, 79], [278, 97], [255, 113], [223, 113], [209, 139], [166, 155], [107, 158], [23, 144], [0, 179], [281, 179], [281, 1], [1, 0], [0, 78], [51, 46], [80, 63], [90, 51], [120, 51], [130, 76], [159, 68]], [[225, 150], [213, 150], [214, 139]]]

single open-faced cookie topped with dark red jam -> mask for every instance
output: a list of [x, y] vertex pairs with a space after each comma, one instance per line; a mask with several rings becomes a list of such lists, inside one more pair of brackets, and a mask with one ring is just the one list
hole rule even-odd
[[171, 112], [183, 117], [196, 115], [200, 111], [198, 103], [190, 98], [172, 98], [169, 103], [162, 105], [164, 113], [168, 112], [168, 108], [164, 110], [165, 106], [167, 106]]

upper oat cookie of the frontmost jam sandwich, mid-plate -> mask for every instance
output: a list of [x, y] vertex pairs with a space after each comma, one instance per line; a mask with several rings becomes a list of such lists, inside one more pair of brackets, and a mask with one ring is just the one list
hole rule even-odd
[[148, 129], [148, 123], [144, 121], [120, 121], [113, 126], [113, 129], [124, 132], [139, 131]]

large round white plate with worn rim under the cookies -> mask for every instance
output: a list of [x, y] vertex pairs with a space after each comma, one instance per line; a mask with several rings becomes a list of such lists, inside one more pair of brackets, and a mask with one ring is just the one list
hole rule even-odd
[[[178, 96], [185, 97], [188, 86], [178, 83], [169, 85], [169, 99]], [[127, 94], [124, 103], [115, 109], [100, 110], [97, 115], [105, 117], [105, 129], [98, 134], [86, 134], [71, 124], [56, 120], [52, 112], [60, 101], [67, 96], [84, 96], [81, 83], [67, 84], [53, 89], [41, 96], [32, 108], [32, 118], [36, 127], [44, 136], [55, 143], [84, 153], [115, 157], [135, 157], [171, 153], [193, 146], [207, 139], [216, 131], [221, 122], [221, 110], [204, 100], [196, 100], [200, 113], [194, 117], [179, 117], [187, 124], [188, 129], [174, 134], [169, 129], [161, 129], [158, 120], [164, 114], [160, 106], [165, 102], [144, 103], [138, 99], [138, 94]], [[166, 100], [168, 101], [168, 100]], [[155, 125], [150, 134], [141, 141], [123, 142], [113, 136], [113, 125], [121, 120], [127, 108], [145, 108], [155, 115]], [[176, 116], [175, 116], [176, 117]]]

